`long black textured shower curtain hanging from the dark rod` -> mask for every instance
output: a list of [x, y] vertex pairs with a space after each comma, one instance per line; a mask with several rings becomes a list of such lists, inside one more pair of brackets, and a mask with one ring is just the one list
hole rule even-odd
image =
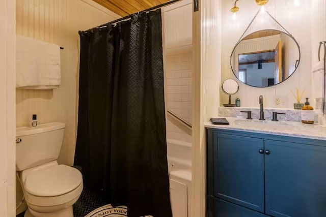
[[128, 216], [170, 217], [160, 10], [80, 36], [75, 165]]

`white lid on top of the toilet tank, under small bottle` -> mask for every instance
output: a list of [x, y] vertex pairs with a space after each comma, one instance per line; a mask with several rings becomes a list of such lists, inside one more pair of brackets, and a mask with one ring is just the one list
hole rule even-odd
[[38, 125], [37, 127], [33, 127], [33, 128], [32, 127], [16, 128], [16, 137], [60, 130], [65, 128], [65, 126], [66, 126], [65, 123], [51, 122], [51, 123], [43, 123], [42, 125]]

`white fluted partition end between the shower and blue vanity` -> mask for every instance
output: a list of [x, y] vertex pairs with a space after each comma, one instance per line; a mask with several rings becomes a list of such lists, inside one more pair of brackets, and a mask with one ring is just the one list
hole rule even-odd
[[199, 1], [200, 11], [193, 13], [193, 148], [192, 217], [204, 217], [206, 211], [205, 122], [218, 116], [220, 101], [222, 3]]

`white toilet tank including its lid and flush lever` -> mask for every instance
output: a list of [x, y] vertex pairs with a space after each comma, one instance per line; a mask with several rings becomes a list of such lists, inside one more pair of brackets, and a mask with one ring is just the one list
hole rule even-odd
[[59, 122], [16, 128], [16, 171], [57, 160], [64, 131], [65, 123]]

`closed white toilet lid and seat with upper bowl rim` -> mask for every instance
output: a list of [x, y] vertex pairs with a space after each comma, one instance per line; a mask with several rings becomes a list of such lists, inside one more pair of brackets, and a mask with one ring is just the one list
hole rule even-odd
[[60, 206], [78, 198], [82, 191], [82, 174], [65, 165], [35, 171], [24, 182], [26, 202], [34, 206]]

